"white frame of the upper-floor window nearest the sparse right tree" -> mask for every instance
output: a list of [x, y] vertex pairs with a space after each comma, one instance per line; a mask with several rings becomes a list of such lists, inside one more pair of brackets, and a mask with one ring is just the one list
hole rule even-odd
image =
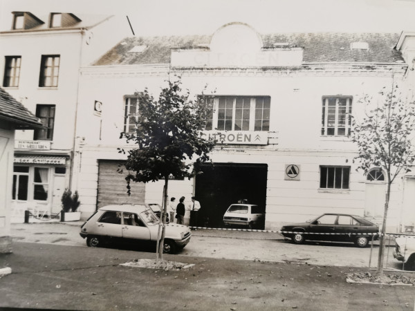
[[[335, 111], [334, 111], [334, 126], [333, 134], [329, 134], [329, 129], [332, 126], [329, 126], [329, 102], [330, 100], [335, 100]], [[339, 112], [340, 104], [342, 100], [346, 100], [345, 112], [344, 112], [344, 134], [339, 134], [339, 129], [343, 127], [340, 126], [340, 117], [342, 117]], [[351, 109], [353, 107], [353, 96], [323, 96], [322, 97], [322, 127], [321, 135], [324, 137], [348, 137], [351, 134]]]

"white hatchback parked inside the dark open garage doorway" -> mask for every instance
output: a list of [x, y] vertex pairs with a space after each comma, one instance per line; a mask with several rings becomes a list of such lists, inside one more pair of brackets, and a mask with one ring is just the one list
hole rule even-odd
[[232, 204], [223, 215], [223, 223], [264, 229], [265, 208], [255, 204]]

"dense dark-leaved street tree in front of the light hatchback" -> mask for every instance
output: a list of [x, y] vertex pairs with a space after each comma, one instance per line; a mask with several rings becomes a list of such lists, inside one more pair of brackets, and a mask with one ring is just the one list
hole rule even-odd
[[128, 194], [131, 194], [131, 181], [165, 180], [158, 260], [163, 260], [169, 177], [194, 177], [201, 164], [210, 160], [208, 153], [214, 147], [214, 141], [202, 132], [210, 113], [207, 101], [211, 97], [199, 96], [192, 100], [189, 91], [182, 92], [180, 77], [175, 82], [167, 82], [168, 86], [162, 89], [158, 99], [150, 95], [147, 88], [136, 94], [139, 106], [136, 131], [121, 133], [121, 138], [136, 144], [136, 148], [127, 151], [124, 162], [129, 172], [125, 178]]

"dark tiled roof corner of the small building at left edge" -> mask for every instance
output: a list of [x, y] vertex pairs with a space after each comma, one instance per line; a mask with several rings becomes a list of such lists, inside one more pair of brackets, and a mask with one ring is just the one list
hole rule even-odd
[[33, 113], [17, 102], [9, 93], [0, 88], [0, 120], [7, 120], [17, 125], [18, 129], [35, 129], [43, 127]]

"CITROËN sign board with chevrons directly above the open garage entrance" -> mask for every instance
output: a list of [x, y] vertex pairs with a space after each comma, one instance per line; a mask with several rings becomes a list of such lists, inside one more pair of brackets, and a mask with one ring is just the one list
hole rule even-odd
[[268, 144], [266, 131], [204, 131], [216, 144]]

